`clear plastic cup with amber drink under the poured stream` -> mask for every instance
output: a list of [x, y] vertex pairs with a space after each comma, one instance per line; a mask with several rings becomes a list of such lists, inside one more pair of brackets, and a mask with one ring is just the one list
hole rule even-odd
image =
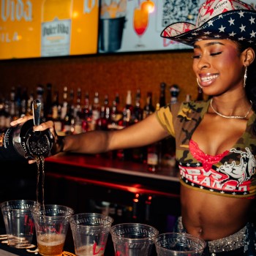
[[61, 256], [72, 208], [59, 205], [39, 206], [32, 211], [40, 255]]

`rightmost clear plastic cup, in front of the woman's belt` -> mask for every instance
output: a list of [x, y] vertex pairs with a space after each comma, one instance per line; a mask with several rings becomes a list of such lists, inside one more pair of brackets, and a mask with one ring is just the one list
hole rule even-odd
[[187, 233], [162, 233], [154, 238], [157, 256], [200, 256], [206, 248], [201, 238]]

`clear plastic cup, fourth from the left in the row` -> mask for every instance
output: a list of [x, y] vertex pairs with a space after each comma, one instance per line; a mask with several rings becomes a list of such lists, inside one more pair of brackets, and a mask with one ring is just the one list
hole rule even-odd
[[110, 229], [115, 255], [151, 255], [154, 238], [159, 231], [155, 227], [141, 223], [121, 223]]

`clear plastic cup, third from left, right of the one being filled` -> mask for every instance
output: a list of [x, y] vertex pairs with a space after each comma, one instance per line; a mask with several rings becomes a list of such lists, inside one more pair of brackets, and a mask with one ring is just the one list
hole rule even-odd
[[75, 255], [103, 256], [113, 218], [97, 213], [74, 214], [69, 218]]

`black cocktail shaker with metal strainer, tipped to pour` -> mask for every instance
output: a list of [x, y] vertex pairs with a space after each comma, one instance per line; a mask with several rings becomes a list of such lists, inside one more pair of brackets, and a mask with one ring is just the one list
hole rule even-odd
[[0, 161], [35, 159], [49, 157], [53, 146], [53, 135], [47, 129], [34, 132], [34, 125], [40, 124], [41, 102], [33, 102], [33, 116], [23, 124], [10, 127], [0, 132]]

